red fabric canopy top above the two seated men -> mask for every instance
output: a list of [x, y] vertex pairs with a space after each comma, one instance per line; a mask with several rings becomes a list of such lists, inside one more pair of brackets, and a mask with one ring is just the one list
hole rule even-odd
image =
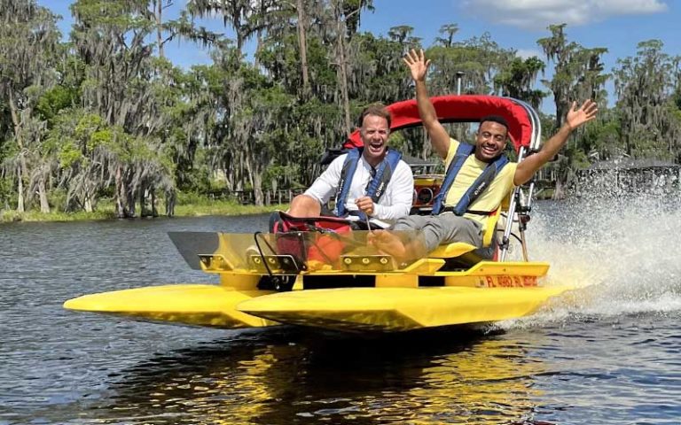
[[[448, 95], [431, 97], [437, 118], [441, 122], [478, 122], [487, 115], [500, 115], [508, 121], [508, 135], [518, 151], [521, 146], [529, 146], [532, 136], [532, 123], [525, 108], [510, 97], [483, 95]], [[391, 130], [417, 127], [421, 125], [416, 100], [404, 100], [387, 106], [392, 114]], [[363, 146], [359, 130], [355, 130], [343, 148]]]

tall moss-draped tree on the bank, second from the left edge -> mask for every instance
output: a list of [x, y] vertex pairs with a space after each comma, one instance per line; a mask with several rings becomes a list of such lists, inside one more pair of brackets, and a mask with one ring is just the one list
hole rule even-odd
[[[155, 96], [167, 61], [153, 58], [153, 45], [145, 40], [156, 26], [147, 0], [77, 0], [71, 6], [74, 49], [84, 63], [82, 103], [97, 113], [109, 128], [104, 143], [113, 175], [119, 217], [135, 216], [136, 200], [151, 180], [163, 181], [168, 197], [167, 166], [155, 166], [161, 150], [161, 133], [170, 127], [164, 104]], [[165, 64], [165, 65], [164, 65]], [[155, 84], [155, 83], [156, 84]], [[162, 86], [161, 86], [162, 87]], [[148, 173], [157, 173], [153, 178]], [[153, 195], [152, 195], [153, 196]]]

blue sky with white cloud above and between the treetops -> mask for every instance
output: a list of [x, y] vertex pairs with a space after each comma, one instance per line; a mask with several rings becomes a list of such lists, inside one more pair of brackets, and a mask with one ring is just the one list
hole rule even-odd
[[[72, 23], [68, 5], [72, 1], [37, 3], [63, 17], [59, 27], [67, 37]], [[167, 18], [176, 18], [184, 4], [184, 0], [174, 0]], [[664, 52], [681, 55], [681, 0], [373, 0], [373, 5], [373, 12], [362, 15], [360, 30], [387, 35], [390, 27], [408, 25], [424, 46], [433, 44], [442, 25], [457, 24], [458, 41], [489, 32], [501, 47], [546, 62], [536, 40], [551, 35], [549, 25], [566, 23], [568, 41], [585, 48], [607, 48], [603, 56], [607, 72], [616, 66], [618, 58], [635, 56], [638, 42], [646, 40], [661, 40]], [[222, 18], [197, 20], [212, 31], [232, 34], [223, 26]], [[166, 55], [184, 68], [211, 62], [208, 51], [191, 42], [170, 42]], [[550, 68], [551, 63], [545, 77], [550, 75]], [[550, 97], [544, 99], [543, 109], [551, 103]]]

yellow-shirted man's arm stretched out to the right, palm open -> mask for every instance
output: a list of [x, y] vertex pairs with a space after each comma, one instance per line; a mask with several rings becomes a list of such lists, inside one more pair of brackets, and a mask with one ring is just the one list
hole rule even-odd
[[544, 143], [540, 151], [523, 159], [518, 164], [513, 176], [513, 184], [520, 186], [528, 182], [539, 168], [556, 156], [558, 151], [568, 142], [568, 137], [575, 128], [579, 128], [584, 123], [596, 118], [596, 112], [599, 111], [596, 102], [591, 99], [587, 99], [579, 109], [575, 110], [575, 106], [576, 102], [570, 105], [565, 124], [558, 130], [558, 133]]

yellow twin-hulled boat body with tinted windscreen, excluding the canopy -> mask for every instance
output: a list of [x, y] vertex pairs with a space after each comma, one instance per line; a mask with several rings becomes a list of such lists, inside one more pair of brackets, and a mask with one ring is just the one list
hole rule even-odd
[[[538, 284], [549, 269], [543, 262], [480, 261], [472, 267], [455, 266], [442, 271], [451, 259], [460, 261], [462, 255], [472, 255], [474, 247], [465, 243], [440, 250], [444, 254], [464, 251], [456, 257], [431, 256], [395, 264], [390, 256], [364, 244], [368, 233], [354, 231], [351, 241], [344, 240], [348, 236], [340, 239], [359, 247], [360, 253], [350, 251], [325, 262], [309, 259], [296, 274], [292, 255], [269, 249], [275, 247], [280, 237], [277, 234], [256, 236], [268, 246], [263, 255], [247, 252], [254, 241], [251, 234], [171, 234], [185, 256], [192, 254], [183, 241], [215, 239], [215, 251], [193, 255], [202, 270], [219, 274], [221, 283], [116, 290], [74, 298], [64, 306], [214, 328], [263, 327], [283, 322], [389, 332], [521, 317], [569, 289]], [[319, 243], [320, 237], [329, 235], [310, 232], [303, 237], [303, 243], [312, 246]], [[277, 285], [284, 291], [278, 291]], [[293, 286], [288, 290], [286, 285]]]

